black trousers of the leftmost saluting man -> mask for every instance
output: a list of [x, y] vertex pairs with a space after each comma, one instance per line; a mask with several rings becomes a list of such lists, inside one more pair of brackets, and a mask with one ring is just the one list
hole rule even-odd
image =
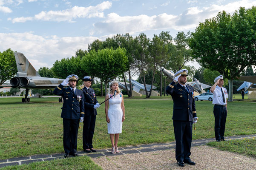
[[63, 119], [63, 147], [65, 153], [76, 153], [79, 119]]

